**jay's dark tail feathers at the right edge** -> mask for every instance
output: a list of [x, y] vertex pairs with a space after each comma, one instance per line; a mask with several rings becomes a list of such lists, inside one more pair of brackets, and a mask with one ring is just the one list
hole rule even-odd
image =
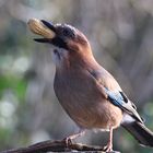
[[127, 129], [141, 145], [153, 148], [153, 132], [149, 130], [144, 123], [133, 121], [123, 123], [122, 127]]

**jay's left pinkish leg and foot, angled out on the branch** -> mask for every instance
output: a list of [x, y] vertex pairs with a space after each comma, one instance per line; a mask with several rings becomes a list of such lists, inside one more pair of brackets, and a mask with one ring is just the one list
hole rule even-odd
[[72, 140], [76, 139], [78, 137], [81, 137], [85, 133], [85, 130], [80, 129], [76, 133], [73, 133], [67, 138], [63, 139], [63, 141], [66, 141], [66, 144], [69, 146], [70, 144], [72, 144]]

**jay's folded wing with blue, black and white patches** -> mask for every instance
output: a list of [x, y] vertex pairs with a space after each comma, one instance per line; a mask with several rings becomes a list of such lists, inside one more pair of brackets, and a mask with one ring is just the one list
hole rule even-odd
[[[122, 111], [127, 113], [131, 117], [133, 117], [136, 120], [143, 122], [139, 114], [137, 113], [137, 107], [126, 96], [126, 94], [121, 91], [120, 87], [117, 86], [117, 90], [109, 89], [109, 85], [104, 81], [104, 79], [107, 78], [107, 82], [111, 83], [115, 82], [117, 84], [116, 80], [107, 72], [104, 73], [96, 73], [96, 72], [90, 72], [90, 74], [95, 79], [96, 84], [98, 87], [101, 87], [101, 91], [103, 95], [106, 95], [105, 97], [115, 106], [122, 109]], [[108, 75], [108, 76], [107, 76]]]

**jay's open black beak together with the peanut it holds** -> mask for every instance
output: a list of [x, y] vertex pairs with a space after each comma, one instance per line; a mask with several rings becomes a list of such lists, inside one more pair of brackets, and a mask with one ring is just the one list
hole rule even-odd
[[44, 37], [44, 38], [34, 39], [38, 43], [49, 43], [52, 38], [56, 37], [56, 28], [50, 22], [46, 22], [44, 20], [31, 19], [27, 24], [30, 30], [34, 34]]

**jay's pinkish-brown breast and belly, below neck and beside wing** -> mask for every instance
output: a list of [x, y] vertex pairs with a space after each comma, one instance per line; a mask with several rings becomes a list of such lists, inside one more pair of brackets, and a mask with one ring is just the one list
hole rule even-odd
[[109, 111], [115, 106], [104, 98], [94, 80], [84, 71], [56, 73], [55, 93], [64, 110], [82, 128], [108, 129], [114, 123], [119, 125], [115, 117], [121, 114], [120, 109]]

